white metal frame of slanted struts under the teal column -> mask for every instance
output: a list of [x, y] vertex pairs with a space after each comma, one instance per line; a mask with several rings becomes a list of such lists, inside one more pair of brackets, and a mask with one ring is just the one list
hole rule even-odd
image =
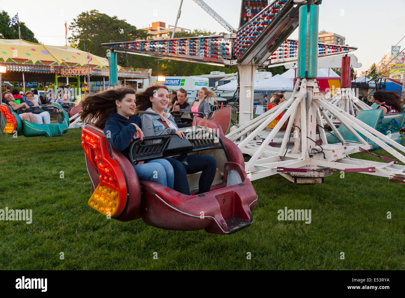
[[[253, 65], [251, 68], [254, 70]], [[242, 85], [243, 83], [241, 82], [241, 91]], [[248, 88], [250, 87], [251, 86], [248, 86]], [[344, 106], [346, 108], [349, 107], [349, 111], [345, 111], [341, 107], [336, 106], [333, 102], [328, 101], [327, 94], [326, 92], [319, 92], [318, 84], [315, 79], [298, 79], [294, 87], [294, 92], [288, 101], [266, 111], [264, 114], [250, 120], [226, 135], [226, 137], [238, 145], [244, 154], [251, 156], [249, 161], [245, 163], [245, 171], [248, 177], [251, 180], [256, 180], [279, 174], [280, 172], [277, 170], [277, 167], [295, 169], [333, 168], [341, 170], [347, 168], [362, 170], [363, 168], [374, 167], [375, 172], [365, 173], [390, 178], [399, 176], [403, 177], [405, 180], [404, 165], [397, 165], [394, 162], [384, 163], [349, 157], [349, 154], [360, 152], [359, 148], [366, 150], [371, 148], [371, 145], [368, 144], [359, 133], [375, 142], [378, 146], [403, 163], [405, 163], [405, 156], [393, 148], [405, 153], [405, 147], [356, 119], [354, 115], [351, 115], [350, 112], [354, 111], [354, 105], [360, 102], [355, 102], [352, 94], [349, 93], [350, 97], [345, 101], [345, 103], [349, 103], [349, 105]], [[350, 103], [352, 103], [352, 105]], [[357, 108], [358, 110], [362, 108], [361, 103]], [[263, 131], [285, 109], [287, 109], [286, 112], [275, 127], [271, 131]], [[328, 112], [342, 125], [347, 127], [360, 142], [345, 141], [335, 124], [326, 116]], [[333, 129], [343, 145], [341, 143], [328, 144], [326, 132], [322, 128], [319, 129], [320, 137], [317, 139], [317, 125], [324, 127], [324, 120]], [[269, 146], [269, 143], [275, 138], [286, 122], [288, 124], [280, 148]], [[294, 132], [292, 132], [293, 126], [298, 126], [299, 129], [295, 128]], [[266, 137], [264, 137], [264, 135], [266, 135]], [[261, 139], [264, 138], [261, 144], [257, 144], [257, 137]], [[292, 148], [289, 148], [290, 144], [287, 144], [289, 139], [294, 140], [294, 146]], [[314, 143], [314, 141], [318, 140], [322, 140], [321, 146], [325, 157], [323, 153], [319, 152], [321, 149], [320, 146]], [[314, 150], [314, 148], [318, 150]], [[322, 178], [330, 174], [331, 173], [322, 172], [299, 173], [293, 171], [282, 173], [284, 177], [290, 180], [294, 177], [300, 177], [303, 180], [307, 179], [310, 183], [313, 183], [313, 178]]]

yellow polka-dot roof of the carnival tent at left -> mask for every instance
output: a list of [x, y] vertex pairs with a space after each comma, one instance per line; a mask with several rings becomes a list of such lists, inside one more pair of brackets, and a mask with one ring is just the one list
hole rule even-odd
[[93, 64], [108, 67], [108, 59], [93, 54], [90, 56], [92, 60], [88, 62], [86, 59], [87, 52], [73, 47], [41, 45], [22, 39], [0, 39], [0, 58], [4, 61], [12, 59], [21, 63], [24, 60], [31, 60], [34, 64], [37, 61], [53, 61], [68, 66]]

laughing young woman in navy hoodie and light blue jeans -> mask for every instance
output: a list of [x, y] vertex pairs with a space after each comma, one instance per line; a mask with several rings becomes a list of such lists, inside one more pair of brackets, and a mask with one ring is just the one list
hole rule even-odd
[[[128, 157], [131, 143], [140, 138], [143, 140], [142, 122], [134, 115], [136, 108], [135, 90], [121, 87], [98, 92], [81, 101], [81, 120], [95, 122], [103, 129], [107, 141]], [[132, 162], [132, 161], [131, 161]], [[166, 159], [154, 159], [134, 165], [139, 180], [160, 183], [173, 189], [173, 167]]]

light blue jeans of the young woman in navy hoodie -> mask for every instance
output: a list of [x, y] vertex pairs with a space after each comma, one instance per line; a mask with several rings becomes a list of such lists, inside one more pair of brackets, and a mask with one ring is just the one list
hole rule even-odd
[[173, 189], [173, 167], [166, 159], [154, 159], [134, 165], [134, 168], [139, 180], [153, 181]]

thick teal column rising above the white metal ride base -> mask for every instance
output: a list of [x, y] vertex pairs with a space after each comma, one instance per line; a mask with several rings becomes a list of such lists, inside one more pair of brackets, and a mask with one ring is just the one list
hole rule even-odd
[[307, 5], [299, 11], [298, 27], [298, 78], [315, 79], [318, 75], [318, 28], [319, 6], [310, 6], [309, 16]]

